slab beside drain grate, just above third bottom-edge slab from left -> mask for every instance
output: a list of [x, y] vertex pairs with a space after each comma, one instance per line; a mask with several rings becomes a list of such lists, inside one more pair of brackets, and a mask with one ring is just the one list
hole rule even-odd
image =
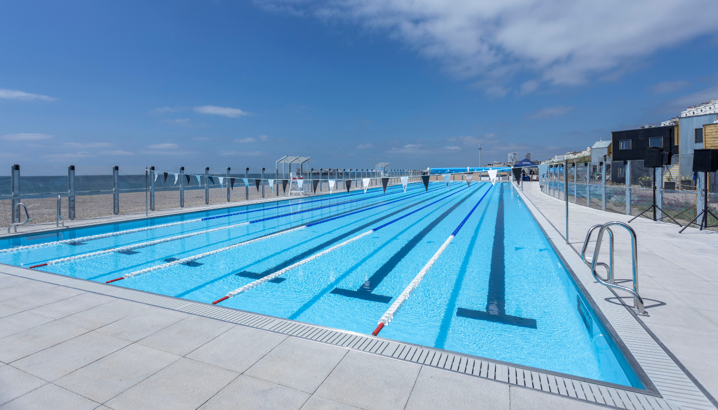
[[348, 349], [287, 337], [245, 374], [314, 393], [347, 352]]

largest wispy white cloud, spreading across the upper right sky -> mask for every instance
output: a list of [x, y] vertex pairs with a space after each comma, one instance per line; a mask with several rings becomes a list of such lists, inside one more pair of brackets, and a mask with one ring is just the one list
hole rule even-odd
[[[264, 0], [271, 9], [337, 19], [386, 33], [496, 95], [528, 73], [554, 85], [585, 83], [718, 31], [714, 0]], [[498, 85], [498, 88], [491, 88]], [[524, 88], [538, 86], [528, 84]]]

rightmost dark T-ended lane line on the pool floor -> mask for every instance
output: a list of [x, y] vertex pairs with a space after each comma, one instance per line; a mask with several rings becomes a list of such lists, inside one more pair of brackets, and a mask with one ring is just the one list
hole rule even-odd
[[491, 252], [491, 271], [489, 274], [488, 296], [484, 311], [457, 308], [458, 317], [468, 319], [486, 320], [488, 322], [503, 323], [536, 329], [536, 320], [528, 317], [506, 315], [506, 266], [505, 266], [505, 231], [504, 231], [504, 204], [503, 185], [498, 197], [498, 210], [496, 212], [496, 228], [494, 233], [493, 249]]

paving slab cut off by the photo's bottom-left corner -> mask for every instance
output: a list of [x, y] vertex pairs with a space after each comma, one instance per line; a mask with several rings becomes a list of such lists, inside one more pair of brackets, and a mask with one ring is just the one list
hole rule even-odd
[[64, 388], [47, 383], [24, 396], [1, 406], [1, 410], [47, 410], [47, 409], [73, 409], [93, 410], [100, 406], [83, 396], [79, 396]]

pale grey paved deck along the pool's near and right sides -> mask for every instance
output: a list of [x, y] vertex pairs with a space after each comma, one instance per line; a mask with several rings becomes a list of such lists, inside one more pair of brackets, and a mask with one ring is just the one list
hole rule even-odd
[[[523, 193], [561, 230], [563, 202], [545, 195], [533, 184], [527, 184]], [[590, 225], [623, 220], [622, 215], [579, 205], [572, 205], [569, 214], [570, 228], [575, 233], [571, 240], [576, 243], [582, 243]], [[691, 261], [693, 253], [689, 250], [696, 254], [712, 250], [715, 258], [718, 236], [686, 230], [688, 235], [673, 238], [670, 235], [677, 231], [675, 226], [652, 221], [636, 223], [636, 230], [639, 264], [645, 261], [645, 267], [640, 268], [641, 293], [652, 299], [647, 301], [651, 317], [640, 320], [678, 363], [714, 394], [718, 383], [717, 371], [712, 369], [717, 368], [718, 352], [709, 340], [718, 340], [717, 293], [706, 292], [718, 286], [714, 272], [718, 269], [701, 273], [699, 264]], [[549, 233], [554, 242], [555, 234]], [[672, 242], [666, 245], [668, 238]], [[676, 242], [682, 244], [681, 251], [676, 252]], [[709, 248], [694, 248], [699, 245]], [[617, 232], [618, 279], [625, 278], [628, 272], [625, 246], [625, 236]], [[686, 257], [681, 259], [685, 263], [673, 262], [676, 254]], [[676, 267], [662, 260], [671, 260]], [[700, 259], [700, 264], [709, 266], [710, 261], [718, 260]], [[653, 269], [653, 265], [660, 269]], [[550, 383], [541, 386], [544, 375], [536, 376], [533, 388], [528, 387], [530, 383], [516, 386], [516, 380], [510, 378], [502, 382], [486, 378], [485, 373], [462, 373], [448, 361], [446, 368], [431, 360], [429, 364], [414, 363], [406, 355], [393, 358], [322, 343], [279, 330], [264, 330], [259, 328], [261, 325], [238, 325], [237, 321], [209, 317], [198, 310], [192, 314], [188, 313], [190, 309], [162, 307], [166, 304], [157, 302], [171, 299], [168, 297], [142, 299], [138, 291], [132, 291], [136, 292], [134, 297], [111, 296], [121, 288], [80, 283], [80, 279], [67, 281], [65, 276], [10, 266], [0, 266], [0, 271], [6, 272], [0, 274], [0, 410], [581, 410], [616, 408], [610, 403], [617, 404], [621, 399], [621, 408], [679, 409], [666, 401], [653, 401], [650, 406], [625, 396], [606, 401], [603, 406], [590, 404], [554, 393], [551, 388], [555, 386]], [[684, 286], [673, 286], [676, 282]], [[689, 284], [694, 286], [686, 287]], [[615, 300], [597, 302], [616, 307], [627, 320], [635, 322]], [[609, 302], [612, 304], [606, 305]], [[202, 304], [196, 305], [202, 309]], [[212, 309], [239, 315], [233, 309]], [[286, 326], [280, 325], [272, 328]], [[465, 361], [456, 362], [467, 368]], [[531, 378], [526, 376], [528, 373], [536, 372], [526, 371], [522, 377]], [[681, 383], [686, 381], [681, 379]], [[689, 400], [685, 403], [686, 409], [705, 408], [693, 407]]]

